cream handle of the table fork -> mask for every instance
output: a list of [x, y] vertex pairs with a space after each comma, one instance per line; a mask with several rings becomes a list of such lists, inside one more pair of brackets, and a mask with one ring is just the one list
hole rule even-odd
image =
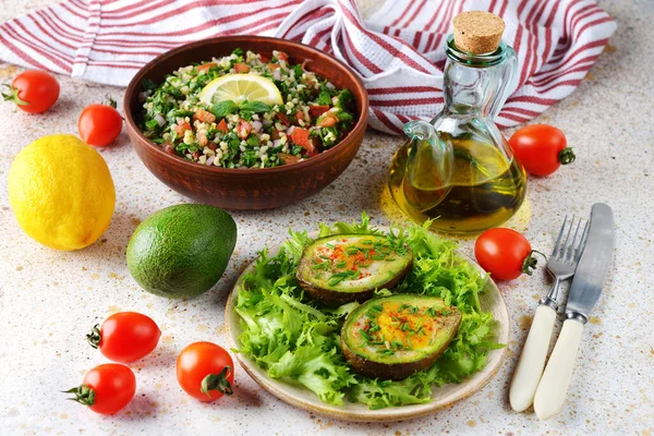
[[536, 307], [509, 390], [509, 402], [516, 412], [526, 410], [534, 402], [534, 395], [545, 367], [555, 319], [554, 308], [546, 304]]

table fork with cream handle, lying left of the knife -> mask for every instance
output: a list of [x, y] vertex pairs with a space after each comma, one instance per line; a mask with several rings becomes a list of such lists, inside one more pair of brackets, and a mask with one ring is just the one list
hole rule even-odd
[[[522, 412], [534, 401], [536, 388], [545, 367], [554, 322], [559, 308], [559, 286], [564, 280], [568, 280], [574, 275], [574, 269], [585, 243], [589, 230], [588, 221], [580, 234], [581, 219], [574, 226], [574, 217], [570, 221], [565, 241], [561, 242], [566, 233], [567, 222], [568, 217], [566, 216], [554, 245], [554, 251], [547, 261], [547, 271], [554, 278], [554, 283], [547, 295], [538, 301], [531, 329], [511, 380], [509, 402], [517, 412]], [[574, 233], [572, 233], [573, 229]], [[570, 239], [571, 235], [572, 239]]]

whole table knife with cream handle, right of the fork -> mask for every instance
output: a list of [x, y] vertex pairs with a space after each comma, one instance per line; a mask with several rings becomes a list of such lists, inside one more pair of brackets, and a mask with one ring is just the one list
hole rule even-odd
[[550, 419], [564, 405], [583, 326], [602, 294], [602, 287], [608, 275], [614, 241], [613, 210], [603, 203], [594, 204], [585, 247], [570, 287], [566, 306], [567, 319], [534, 397], [534, 411], [540, 420]]

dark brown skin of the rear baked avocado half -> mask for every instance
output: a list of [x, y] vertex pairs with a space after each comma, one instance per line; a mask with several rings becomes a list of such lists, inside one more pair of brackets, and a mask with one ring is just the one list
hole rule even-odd
[[[358, 237], [359, 235], [360, 234], [358, 234]], [[307, 256], [305, 256], [305, 253], [311, 245], [312, 244], [308, 244], [304, 249], [304, 252], [302, 253], [300, 265], [298, 265], [298, 272], [295, 274], [295, 278], [298, 279], [298, 282], [300, 283], [302, 289], [304, 289], [311, 295], [312, 299], [318, 301], [319, 303], [322, 303], [328, 307], [338, 307], [340, 305], [351, 303], [353, 301], [363, 303], [363, 302], [372, 299], [375, 295], [375, 290], [377, 290], [377, 289], [395, 288], [400, 282], [400, 280], [402, 280], [404, 278], [404, 276], [407, 276], [409, 274], [409, 271], [411, 271], [411, 269], [413, 268], [413, 252], [411, 250], [409, 250], [409, 247], [407, 247], [408, 253], [411, 254], [411, 259], [409, 261], [409, 263], [407, 263], [407, 266], [400, 272], [398, 272], [392, 279], [390, 279], [386, 283], [382, 283], [377, 288], [374, 288], [374, 289], [362, 290], [359, 292], [334, 291], [331, 289], [317, 287], [317, 286], [304, 280], [304, 278], [302, 278], [301, 271], [304, 269], [303, 264], [306, 262], [310, 262]]]

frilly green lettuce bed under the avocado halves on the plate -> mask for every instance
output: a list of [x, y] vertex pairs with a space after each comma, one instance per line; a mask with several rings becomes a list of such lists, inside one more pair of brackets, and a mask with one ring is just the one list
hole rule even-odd
[[[460, 383], [486, 365], [487, 352], [504, 347], [495, 342], [491, 313], [483, 312], [479, 294], [486, 277], [456, 253], [457, 244], [443, 240], [424, 227], [391, 229], [388, 238], [400, 239], [414, 253], [409, 275], [393, 289], [377, 290], [379, 296], [416, 293], [439, 296], [462, 313], [456, 337], [428, 370], [399, 380], [371, 379], [355, 374], [340, 349], [340, 328], [359, 303], [328, 308], [304, 295], [295, 279], [307, 232], [290, 230], [279, 253], [261, 253], [252, 272], [235, 290], [235, 312], [241, 318], [240, 349], [271, 378], [302, 385], [330, 404], [346, 399], [382, 409], [429, 402], [433, 387]], [[361, 222], [320, 225], [317, 238], [340, 233], [380, 234], [362, 216]]]

